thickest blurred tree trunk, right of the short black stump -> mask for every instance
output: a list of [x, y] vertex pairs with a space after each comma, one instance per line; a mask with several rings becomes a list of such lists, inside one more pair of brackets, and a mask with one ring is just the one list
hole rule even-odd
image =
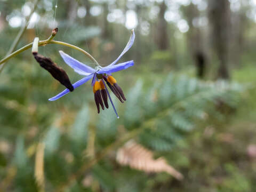
[[209, 21], [212, 44], [220, 61], [218, 78], [229, 79], [230, 3], [228, 0], [209, 0]]

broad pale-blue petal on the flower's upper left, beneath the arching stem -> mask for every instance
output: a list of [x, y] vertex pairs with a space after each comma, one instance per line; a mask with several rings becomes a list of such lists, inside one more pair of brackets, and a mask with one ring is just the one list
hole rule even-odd
[[59, 52], [63, 60], [67, 63], [67, 65], [72, 67], [76, 71], [76, 73], [80, 75], [90, 75], [92, 73], [95, 73], [96, 71], [95, 69], [84, 65], [83, 63], [77, 61], [73, 57], [70, 57], [68, 54], [64, 53], [63, 51], [59, 51]]

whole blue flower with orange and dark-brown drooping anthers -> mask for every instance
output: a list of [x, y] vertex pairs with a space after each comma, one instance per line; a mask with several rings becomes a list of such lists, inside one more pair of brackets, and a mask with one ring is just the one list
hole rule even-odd
[[[103, 110], [104, 110], [104, 105], [106, 108], [108, 108], [108, 98], [109, 98], [111, 105], [113, 106], [114, 111], [117, 115], [115, 106], [113, 104], [112, 99], [110, 98], [110, 94], [108, 92], [106, 84], [109, 86], [110, 90], [116, 95], [116, 97], [121, 102], [124, 102], [126, 100], [121, 87], [118, 86], [116, 79], [111, 74], [119, 70], [127, 69], [134, 65], [133, 60], [127, 61], [124, 63], [119, 63], [116, 65], [117, 61], [121, 59], [121, 57], [131, 48], [134, 42], [134, 39], [135, 39], [135, 34], [134, 34], [134, 30], [132, 30], [132, 35], [128, 43], [126, 44], [124, 50], [119, 55], [119, 57], [110, 65], [106, 67], [97, 66], [95, 69], [83, 64], [82, 62], [77, 61], [76, 59], [70, 57], [68, 54], [64, 53], [63, 51], [59, 51], [61, 57], [67, 63], [67, 65], [73, 68], [76, 73], [85, 76], [84, 78], [80, 79], [79, 81], [73, 84], [74, 89], [76, 89], [78, 86], [92, 79], [94, 100], [98, 109], [98, 113], [100, 113], [100, 106]], [[50, 98], [49, 101], [55, 101], [61, 98], [63, 95], [66, 95], [67, 93], [69, 93], [68, 89], [57, 94], [55, 97]], [[104, 102], [104, 105], [102, 100]], [[118, 115], [117, 115], [117, 118], [119, 118]]]

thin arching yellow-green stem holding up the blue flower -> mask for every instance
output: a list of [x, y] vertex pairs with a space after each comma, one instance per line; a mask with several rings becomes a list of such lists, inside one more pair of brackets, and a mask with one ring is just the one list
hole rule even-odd
[[[81, 48], [79, 48], [79, 47], [77, 47], [77, 46], [75, 46], [75, 45], [71, 45], [71, 44], [69, 44], [69, 43], [60, 42], [60, 41], [54, 41], [54, 40], [50, 40], [50, 41], [49, 41], [49, 39], [46, 39], [46, 40], [44, 40], [44, 41], [39, 41], [38, 46], [45, 46], [45, 45], [47, 45], [47, 44], [49, 44], [49, 43], [59, 44], [59, 45], [63, 45], [63, 46], [68, 46], [68, 47], [70, 47], [70, 48], [72, 48], [72, 49], [81, 51], [81, 52], [84, 53], [87, 57], [89, 57], [97, 66], [99, 66], [99, 63], [92, 57], [92, 55], [91, 55], [90, 53], [84, 51], [83, 49], [81, 49]], [[21, 53], [21, 52], [23, 52], [23, 51], [28, 50], [30, 47], [32, 47], [32, 45], [33, 45], [33, 43], [29, 43], [29, 44], [27, 44], [27, 45], [21, 47], [19, 50], [15, 51], [15, 52], [13, 52], [13, 53], [11, 53], [11, 54], [9, 54], [9, 55], [7, 55], [7, 57], [5, 57], [4, 59], [2, 59], [2, 60], [0, 61], [0, 65], [2, 65], [4, 62], [6, 62], [7, 60], [11, 59], [11, 58], [14, 57], [15, 55], [17, 55], [17, 54], [19, 54], [19, 53]]]

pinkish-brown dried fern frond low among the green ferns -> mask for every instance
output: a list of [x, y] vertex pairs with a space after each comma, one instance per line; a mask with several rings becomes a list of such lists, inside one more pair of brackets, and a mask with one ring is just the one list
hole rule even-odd
[[133, 169], [145, 172], [166, 172], [178, 180], [183, 179], [183, 175], [167, 164], [165, 158], [154, 159], [152, 151], [132, 140], [118, 149], [116, 161], [121, 165], [129, 165]]

